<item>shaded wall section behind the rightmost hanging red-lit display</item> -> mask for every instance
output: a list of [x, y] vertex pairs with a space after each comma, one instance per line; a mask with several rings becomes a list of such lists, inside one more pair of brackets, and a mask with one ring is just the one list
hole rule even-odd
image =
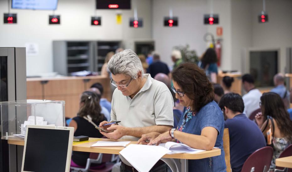
[[280, 69], [278, 70], [284, 73], [286, 48], [292, 47], [292, 1], [266, 0], [267, 23], [257, 21], [257, 15], [262, 11], [262, 0], [253, 0], [251, 6], [252, 47], [280, 48]]

